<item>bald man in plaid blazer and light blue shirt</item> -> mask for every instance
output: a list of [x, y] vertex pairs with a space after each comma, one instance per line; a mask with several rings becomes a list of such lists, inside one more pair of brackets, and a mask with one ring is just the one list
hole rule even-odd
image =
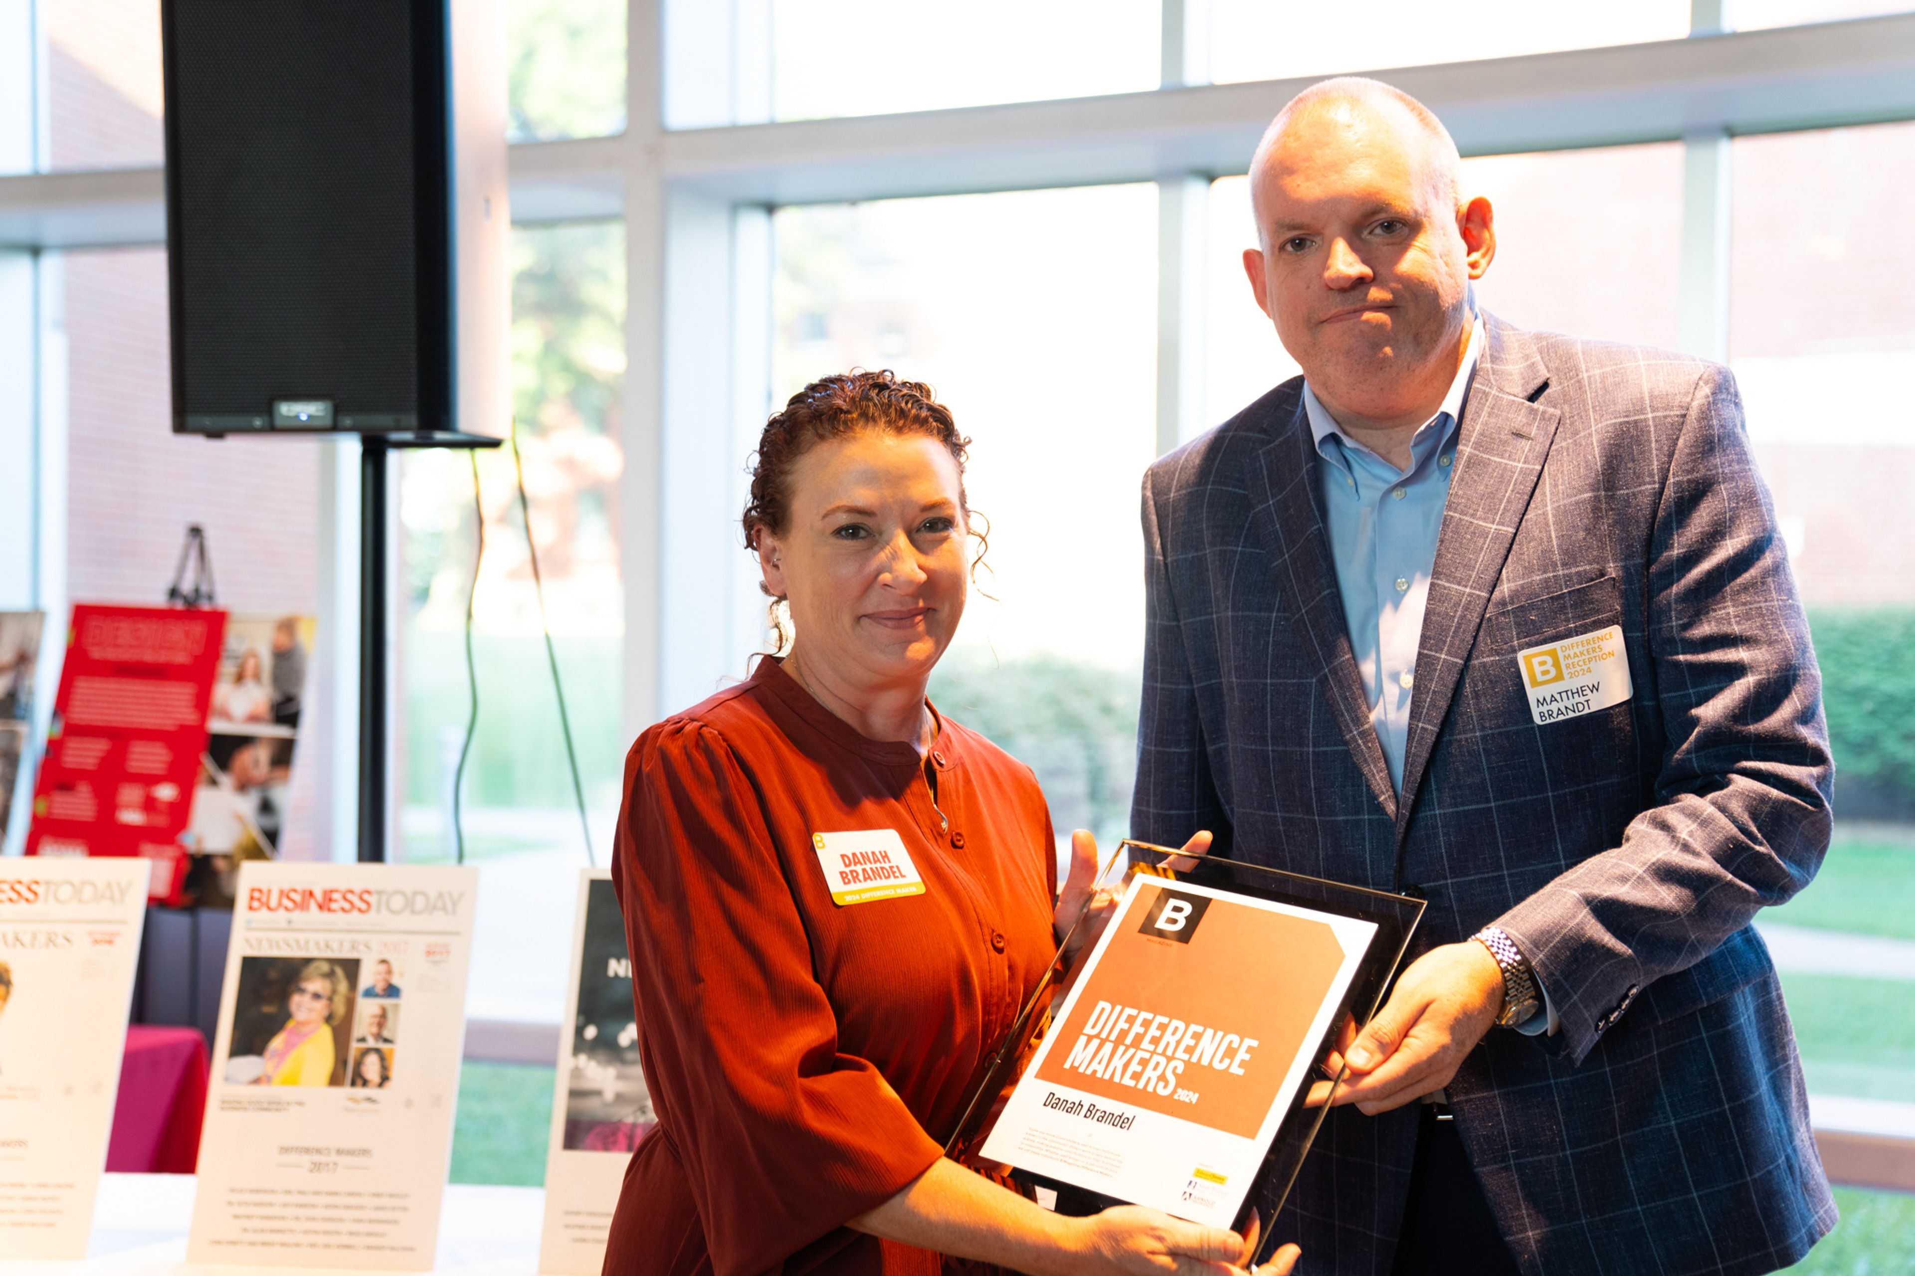
[[1275, 1232], [1337, 1276], [1796, 1263], [1835, 1205], [1750, 920], [1831, 764], [1735, 383], [1478, 310], [1494, 211], [1392, 88], [1306, 90], [1250, 182], [1304, 376], [1145, 477], [1132, 828], [1429, 899]]

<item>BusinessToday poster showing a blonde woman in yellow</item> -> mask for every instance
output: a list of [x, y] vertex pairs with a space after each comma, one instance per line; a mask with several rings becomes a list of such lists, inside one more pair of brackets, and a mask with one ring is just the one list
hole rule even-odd
[[477, 887], [239, 866], [188, 1263], [433, 1265]]

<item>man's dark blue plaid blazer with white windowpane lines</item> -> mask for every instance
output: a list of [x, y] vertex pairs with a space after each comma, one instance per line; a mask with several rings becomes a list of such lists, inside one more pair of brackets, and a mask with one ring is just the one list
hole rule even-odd
[[[1821, 680], [1727, 370], [1488, 318], [1402, 797], [1350, 655], [1302, 379], [1151, 466], [1138, 837], [1498, 923], [1561, 1031], [1448, 1088], [1524, 1272], [1769, 1272], [1835, 1224], [1750, 920], [1829, 845]], [[1538, 726], [1517, 651], [1620, 625], [1633, 697]], [[1386, 1274], [1415, 1105], [1335, 1109], [1275, 1232]], [[1268, 1211], [1266, 1211], [1268, 1217]]]

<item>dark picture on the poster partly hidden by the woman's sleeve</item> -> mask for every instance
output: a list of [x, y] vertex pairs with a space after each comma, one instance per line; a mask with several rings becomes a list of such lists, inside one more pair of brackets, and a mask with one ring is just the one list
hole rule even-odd
[[632, 962], [624, 948], [619, 897], [611, 881], [594, 881], [586, 895], [565, 1150], [628, 1153], [657, 1121], [638, 1061]]

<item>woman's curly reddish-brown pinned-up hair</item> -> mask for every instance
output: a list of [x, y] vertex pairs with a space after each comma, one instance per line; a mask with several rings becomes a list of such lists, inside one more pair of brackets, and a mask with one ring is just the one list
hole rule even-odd
[[[900, 381], [889, 368], [879, 372], [841, 372], [820, 377], [793, 395], [783, 412], [774, 412], [758, 435], [758, 450], [751, 456], [751, 500], [745, 504], [745, 548], [758, 552], [758, 536], [783, 536], [791, 531], [791, 471], [799, 458], [827, 439], [845, 439], [866, 431], [885, 435], [925, 435], [944, 444], [958, 462], [958, 506], [971, 519], [963, 490], [963, 469], [971, 441], [958, 433], [952, 410], [936, 400], [923, 381]], [[984, 558], [984, 535], [979, 533], [979, 552], [973, 569]], [[770, 594], [764, 584], [760, 590]], [[779, 615], [783, 598], [772, 598], [772, 632], [777, 649], [791, 644], [791, 632]]]

